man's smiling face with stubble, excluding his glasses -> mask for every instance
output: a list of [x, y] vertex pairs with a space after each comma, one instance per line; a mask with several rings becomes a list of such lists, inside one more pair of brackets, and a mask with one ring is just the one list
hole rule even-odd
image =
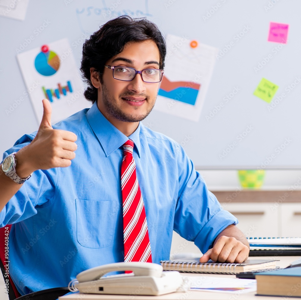
[[[106, 65], [135, 68], [159, 68], [160, 54], [154, 41], [128, 42], [122, 52], [113, 56]], [[132, 81], [113, 78], [113, 70], [104, 68], [101, 98], [98, 95], [98, 108], [109, 121], [139, 122], [154, 107], [159, 83], [146, 83], [140, 74]], [[113, 120], [112, 120], [113, 121]]]

